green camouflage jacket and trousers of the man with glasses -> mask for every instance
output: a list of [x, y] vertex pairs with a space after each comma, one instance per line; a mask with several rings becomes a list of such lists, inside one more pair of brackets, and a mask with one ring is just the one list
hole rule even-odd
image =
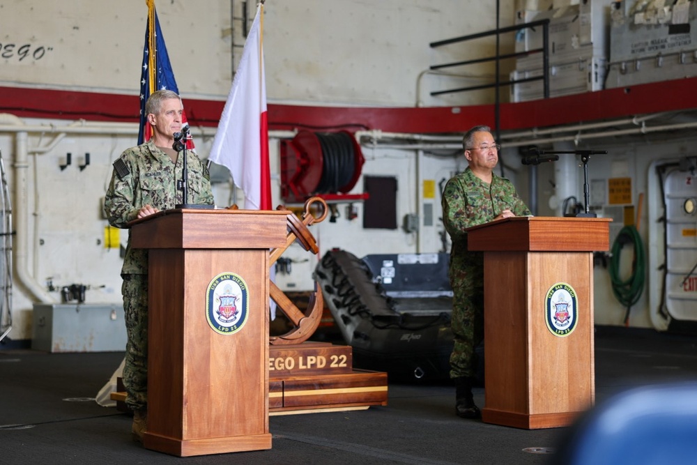
[[484, 254], [468, 252], [465, 229], [493, 221], [506, 208], [516, 216], [530, 215], [511, 181], [496, 174], [492, 177], [489, 185], [467, 168], [447, 181], [443, 190], [443, 224], [452, 241], [452, 379], [475, 376], [474, 351], [484, 338]]

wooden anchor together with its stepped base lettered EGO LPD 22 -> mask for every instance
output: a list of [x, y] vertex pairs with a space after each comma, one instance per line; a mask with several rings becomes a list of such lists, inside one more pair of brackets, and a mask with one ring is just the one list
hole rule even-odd
[[[321, 210], [312, 215], [312, 206]], [[286, 211], [283, 207], [278, 210]], [[327, 204], [321, 197], [305, 202], [302, 221], [289, 212], [286, 245], [270, 252], [270, 264], [293, 242], [317, 254], [319, 247], [307, 227], [327, 216]], [[315, 283], [305, 313], [269, 283], [270, 296], [295, 326], [288, 333], [270, 337], [269, 348], [269, 412], [271, 415], [367, 409], [386, 405], [387, 374], [353, 369], [351, 346], [306, 342], [319, 326], [323, 313], [322, 291]]]

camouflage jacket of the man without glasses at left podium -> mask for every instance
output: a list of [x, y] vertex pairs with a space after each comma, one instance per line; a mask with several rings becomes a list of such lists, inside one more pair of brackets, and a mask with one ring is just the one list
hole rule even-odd
[[[125, 228], [135, 220], [138, 211], [146, 205], [160, 211], [183, 204], [182, 192], [176, 189], [176, 181], [182, 178], [183, 157], [178, 157], [176, 166], [167, 153], [152, 141], [128, 148], [114, 162], [112, 181], [105, 197], [104, 209], [109, 224]], [[188, 204], [213, 204], [208, 168], [192, 151], [187, 151]], [[148, 251], [128, 245], [121, 274], [147, 274]]]

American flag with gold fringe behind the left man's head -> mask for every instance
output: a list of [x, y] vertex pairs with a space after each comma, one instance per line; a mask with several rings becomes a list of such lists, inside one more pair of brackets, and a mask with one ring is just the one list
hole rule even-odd
[[[138, 132], [138, 144], [147, 142], [153, 131], [146, 119], [145, 103], [154, 91], [169, 89], [179, 93], [174, 80], [174, 71], [169, 63], [167, 46], [164, 45], [164, 36], [160, 29], [160, 20], [155, 11], [155, 0], [146, 0], [148, 4], [148, 24], [145, 28], [145, 47], [143, 49], [143, 68], [140, 77], [140, 129]], [[181, 116], [182, 125], [187, 125], [186, 114]], [[187, 141], [187, 148], [194, 148], [191, 138]]]

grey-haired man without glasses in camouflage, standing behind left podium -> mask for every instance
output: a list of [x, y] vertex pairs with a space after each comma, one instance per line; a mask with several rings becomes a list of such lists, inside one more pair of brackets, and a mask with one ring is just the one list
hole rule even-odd
[[[156, 91], [148, 98], [146, 114], [153, 130], [151, 139], [128, 148], [114, 162], [112, 181], [105, 198], [109, 224], [123, 228], [178, 204], [213, 204], [208, 169], [187, 151], [187, 201], [176, 181], [182, 179], [183, 151], [172, 148], [174, 132], [181, 131], [183, 105], [172, 91]], [[123, 267], [123, 310], [126, 343], [123, 384], [126, 404], [134, 411], [132, 432], [141, 440], [146, 425], [148, 368], [148, 251], [132, 249], [130, 231]]]

